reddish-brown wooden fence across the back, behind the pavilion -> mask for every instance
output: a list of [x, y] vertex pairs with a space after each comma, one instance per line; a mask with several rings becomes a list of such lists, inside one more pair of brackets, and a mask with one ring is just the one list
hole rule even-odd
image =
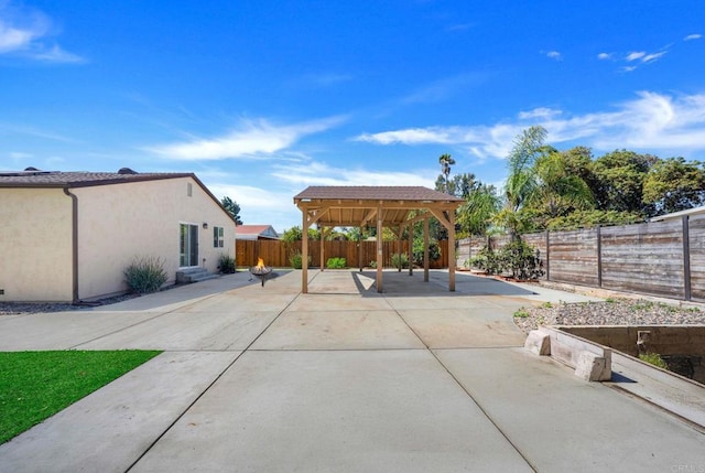
[[[324, 258], [345, 258], [350, 268], [360, 265], [360, 251], [362, 266], [369, 266], [370, 261], [377, 260], [377, 241], [324, 241]], [[430, 267], [433, 269], [448, 267], [448, 241], [438, 241], [441, 258], [431, 260]], [[408, 254], [409, 241], [401, 243], [401, 252]], [[399, 252], [398, 241], [382, 241], [382, 255], [384, 267], [392, 267], [392, 255]], [[285, 243], [282, 240], [236, 240], [235, 261], [239, 267], [257, 265], [257, 258], [262, 258], [267, 266], [278, 268], [291, 267], [291, 257], [301, 252], [301, 241]], [[308, 240], [310, 267], [321, 267], [321, 240]], [[324, 264], [326, 262], [324, 261]]]

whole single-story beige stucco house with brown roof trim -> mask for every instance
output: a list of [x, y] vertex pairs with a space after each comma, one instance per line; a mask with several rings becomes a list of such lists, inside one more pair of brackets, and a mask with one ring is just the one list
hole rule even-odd
[[0, 301], [123, 293], [135, 257], [217, 272], [235, 219], [193, 173], [0, 172]]

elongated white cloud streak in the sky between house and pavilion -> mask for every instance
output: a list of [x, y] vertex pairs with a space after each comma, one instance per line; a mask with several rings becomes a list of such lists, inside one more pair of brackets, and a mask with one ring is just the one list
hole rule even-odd
[[184, 161], [261, 158], [285, 150], [307, 135], [328, 130], [344, 119], [333, 117], [284, 126], [271, 125], [264, 119], [243, 120], [238, 129], [220, 137], [155, 146], [148, 151]]

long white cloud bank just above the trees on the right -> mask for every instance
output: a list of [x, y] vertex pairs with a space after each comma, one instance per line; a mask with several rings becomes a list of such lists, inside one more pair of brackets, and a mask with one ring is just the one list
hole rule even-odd
[[610, 111], [571, 115], [551, 108], [521, 112], [514, 122], [490, 127], [429, 127], [366, 133], [377, 144], [438, 143], [465, 147], [479, 158], [506, 158], [514, 137], [531, 125], [549, 131], [551, 144], [575, 142], [609, 150], [638, 148], [677, 153], [705, 150], [705, 94], [669, 96], [641, 92]]

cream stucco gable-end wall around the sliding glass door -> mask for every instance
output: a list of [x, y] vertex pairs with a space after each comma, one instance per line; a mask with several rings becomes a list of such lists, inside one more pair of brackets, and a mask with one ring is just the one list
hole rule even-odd
[[[140, 256], [161, 258], [173, 283], [180, 269], [180, 224], [198, 225], [199, 266], [217, 272], [219, 256], [234, 256], [235, 223], [191, 178], [78, 187], [73, 193], [78, 196], [79, 299], [127, 291], [123, 270]], [[223, 248], [214, 248], [214, 226], [225, 228]]]

